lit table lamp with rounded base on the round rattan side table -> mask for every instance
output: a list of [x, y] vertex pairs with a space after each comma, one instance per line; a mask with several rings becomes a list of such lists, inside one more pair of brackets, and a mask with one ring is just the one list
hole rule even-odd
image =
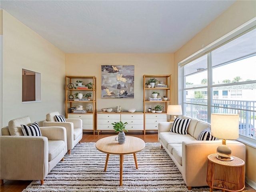
[[222, 139], [222, 145], [217, 148], [217, 158], [231, 161], [231, 149], [226, 145], [226, 139], [237, 139], [239, 137], [239, 115], [238, 114], [211, 114], [212, 136]]

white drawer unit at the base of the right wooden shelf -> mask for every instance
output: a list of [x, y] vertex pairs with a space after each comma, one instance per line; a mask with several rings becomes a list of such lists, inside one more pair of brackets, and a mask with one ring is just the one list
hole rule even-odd
[[167, 121], [166, 114], [146, 114], [145, 118], [145, 130], [158, 130], [158, 123]]

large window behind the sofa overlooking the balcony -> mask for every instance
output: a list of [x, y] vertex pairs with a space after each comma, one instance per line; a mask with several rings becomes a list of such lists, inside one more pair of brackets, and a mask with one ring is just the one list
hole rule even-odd
[[239, 134], [256, 140], [256, 29], [183, 66], [183, 114], [210, 122], [236, 113]]

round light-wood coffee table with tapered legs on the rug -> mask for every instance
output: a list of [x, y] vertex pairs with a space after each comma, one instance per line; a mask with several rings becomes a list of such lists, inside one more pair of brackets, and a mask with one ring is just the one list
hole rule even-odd
[[126, 142], [119, 144], [115, 138], [116, 136], [102, 138], [96, 142], [95, 146], [99, 151], [107, 154], [104, 168], [105, 172], [108, 166], [109, 154], [120, 156], [120, 186], [122, 186], [124, 155], [133, 154], [135, 166], [136, 169], [138, 169], [136, 153], [144, 149], [145, 142], [138, 137], [126, 136]]

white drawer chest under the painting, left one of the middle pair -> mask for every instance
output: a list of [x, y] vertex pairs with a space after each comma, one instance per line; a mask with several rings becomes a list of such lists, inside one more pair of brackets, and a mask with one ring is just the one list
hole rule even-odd
[[112, 123], [120, 122], [120, 114], [112, 113], [97, 113], [97, 131], [114, 130]]

